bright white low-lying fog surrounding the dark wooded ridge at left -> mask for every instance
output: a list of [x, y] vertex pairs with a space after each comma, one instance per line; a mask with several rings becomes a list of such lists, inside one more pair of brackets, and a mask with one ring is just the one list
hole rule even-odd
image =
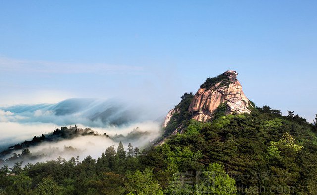
[[[78, 128], [85, 127], [80, 124], [77, 126]], [[7, 146], [20, 143], [24, 140], [31, 140], [33, 136], [40, 136], [42, 133], [46, 134], [54, 130], [54, 124], [52, 123], [19, 124], [13, 122], [0, 122], [0, 127], [0, 134], [2, 135], [2, 138], [0, 139], [0, 149], [5, 149]], [[40, 145], [30, 147], [29, 149], [33, 155], [44, 154], [45, 156], [40, 159], [36, 159], [36, 161], [25, 160], [23, 163], [36, 163], [39, 161], [45, 162], [47, 160], [56, 159], [59, 156], [65, 159], [80, 156], [80, 160], [83, 160], [85, 157], [90, 155], [97, 159], [107, 147], [112, 145], [117, 147], [120, 141], [109, 139], [103, 136], [104, 133], [107, 135], [127, 135], [136, 127], [139, 127], [139, 131], [147, 131], [148, 134], [131, 139], [122, 139], [121, 141], [125, 148], [127, 148], [129, 143], [131, 143], [134, 147], [142, 148], [145, 144], [160, 135], [160, 124], [151, 121], [134, 123], [122, 127], [110, 126], [106, 128], [92, 128], [92, 130], [94, 130], [95, 133], [98, 132], [100, 136], [80, 136], [73, 139], [64, 139], [58, 142], [43, 142]], [[64, 146], [72, 146], [73, 148], [76, 148], [76, 150], [65, 151]], [[21, 151], [14, 152], [18, 154], [21, 153]], [[5, 156], [4, 158], [8, 158], [10, 155], [11, 154]]]

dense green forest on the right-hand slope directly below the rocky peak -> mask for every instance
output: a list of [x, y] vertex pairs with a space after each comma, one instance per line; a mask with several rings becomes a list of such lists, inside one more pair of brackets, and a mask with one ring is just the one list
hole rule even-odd
[[317, 194], [317, 137], [312, 130], [303, 118], [259, 108], [212, 123], [191, 121], [184, 134], [167, 144], [201, 152], [204, 166], [223, 164], [241, 194]]

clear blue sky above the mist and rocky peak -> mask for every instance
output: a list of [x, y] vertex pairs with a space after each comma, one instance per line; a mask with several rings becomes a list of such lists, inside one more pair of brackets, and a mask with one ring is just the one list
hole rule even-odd
[[316, 0], [0, 1], [0, 106], [122, 98], [164, 114], [236, 70], [246, 96], [317, 113]]

